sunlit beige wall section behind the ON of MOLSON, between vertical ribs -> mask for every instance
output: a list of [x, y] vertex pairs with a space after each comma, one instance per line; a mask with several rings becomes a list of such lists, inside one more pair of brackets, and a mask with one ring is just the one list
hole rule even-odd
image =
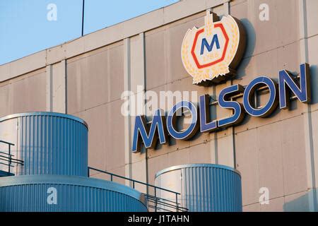
[[[254, 13], [261, 3], [269, 4], [269, 21], [260, 21]], [[251, 28], [249, 37], [255, 37], [254, 43], [249, 42], [254, 44], [254, 51], [245, 54], [239, 69], [242, 80], [234, 83], [247, 84], [260, 75], [278, 78], [281, 69], [299, 71], [298, 6], [298, 1], [245, 1], [231, 7], [232, 15]], [[286, 18], [285, 13], [294, 16]], [[235, 127], [237, 169], [242, 172], [246, 210], [283, 210], [288, 196], [307, 191], [302, 117], [307, 106], [293, 104], [291, 111], [276, 110], [269, 119], [246, 117]], [[269, 188], [269, 205], [259, 204], [261, 187]]]

